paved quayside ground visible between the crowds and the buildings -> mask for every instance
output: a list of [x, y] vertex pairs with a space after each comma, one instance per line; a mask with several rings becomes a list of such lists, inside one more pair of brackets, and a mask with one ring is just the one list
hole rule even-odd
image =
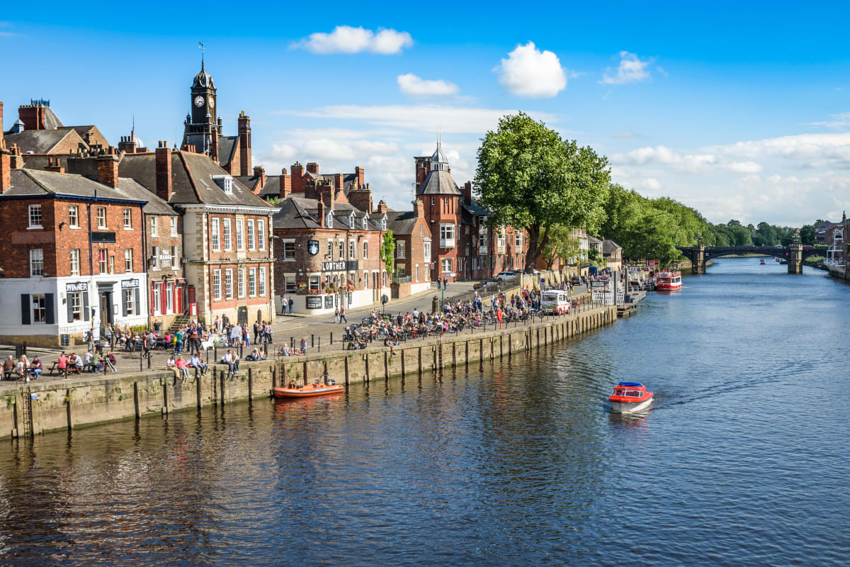
[[[445, 292], [442, 290], [437, 290], [434, 285], [430, 290], [426, 292], [421, 292], [416, 294], [415, 296], [411, 296], [409, 298], [403, 298], [395, 301], [391, 301], [384, 306], [385, 313], [396, 315], [399, 312], [402, 314], [407, 312], [412, 312], [414, 309], [419, 309], [420, 311], [430, 311], [433, 297], [436, 295], [438, 298], [444, 297], [446, 301], [449, 301], [452, 298], [463, 295], [467, 292], [473, 291], [473, 285], [475, 282], [473, 281], [462, 281], [455, 282], [449, 284], [449, 289]], [[574, 294], [579, 295], [587, 291], [587, 286], [576, 286]], [[484, 306], [488, 307], [490, 304], [489, 295], [485, 295], [482, 297], [484, 299]], [[346, 319], [348, 323], [337, 323], [334, 321], [333, 315], [277, 315], [277, 321], [272, 325], [272, 329], [274, 330], [274, 339], [273, 345], [274, 347], [280, 348], [281, 344], [297, 344], [300, 342], [301, 338], [304, 337], [307, 340], [309, 345], [309, 353], [321, 352], [326, 350], [341, 350], [343, 349], [343, 334], [344, 328], [347, 325], [352, 323], [360, 323], [362, 319], [366, 316], [370, 315], [373, 309], [381, 310], [381, 304], [375, 303], [365, 307], [359, 307], [355, 309], [351, 309], [346, 313]], [[253, 337], [250, 337], [253, 340]], [[332, 340], [332, 343], [331, 343]], [[242, 350], [242, 354], [248, 354], [251, 352], [253, 348], [253, 344], [249, 348], [244, 348]], [[275, 360], [275, 349], [272, 350], [271, 356], [269, 356], [269, 360]], [[65, 349], [65, 352], [76, 352], [80, 354], [85, 354], [86, 349], [84, 345], [77, 345], [76, 347], [71, 347], [69, 349]], [[207, 352], [206, 361], [207, 364], [214, 362], [215, 360], [220, 359], [226, 349], [216, 349]], [[45, 369], [48, 369], [53, 361], [59, 358], [60, 349], [42, 349], [37, 347], [30, 347], [27, 349], [27, 356], [30, 360], [32, 360], [33, 354], [37, 354], [40, 359], [42, 359], [42, 364], [45, 366]], [[170, 351], [168, 350], [155, 350], [150, 354], [150, 361], [148, 358], [143, 357], [139, 351], [133, 353], [125, 353], [123, 351], [113, 351], [117, 360], [117, 374], [130, 374], [139, 371], [145, 371], [148, 368], [151, 370], [164, 370], [165, 362], [167, 360]], [[9, 354], [14, 355], [14, 346], [8, 345], [0, 345], [0, 357], [2, 360], [5, 360]], [[184, 351], [184, 358], [188, 359], [191, 353], [187, 353]], [[112, 376], [113, 373], [109, 372], [107, 376]], [[45, 377], [47, 373], [44, 374]], [[82, 377], [92, 377], [93, 374], [89, 372], [83, 372]], [[71, 379], [75, 378], [76, 375], [71, 377]]]

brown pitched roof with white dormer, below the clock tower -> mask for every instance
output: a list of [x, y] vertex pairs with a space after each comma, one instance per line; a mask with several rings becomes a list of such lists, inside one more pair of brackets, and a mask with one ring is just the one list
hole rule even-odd
[[[221, 167], [203, 155], [190, 151], [173, 151], [171, 154], [173, 195], [168, 201], [175, 204], [206, 203], [240, 207], [269, 207], [269, 203], [254, 195], [234, 178], [233, 191], [225, 193], [213, 176], [228, 175]], [[144, 187], [156, 191], [156, 156], [125, 154], [118, 165], [122, 177], [136, 179]]]

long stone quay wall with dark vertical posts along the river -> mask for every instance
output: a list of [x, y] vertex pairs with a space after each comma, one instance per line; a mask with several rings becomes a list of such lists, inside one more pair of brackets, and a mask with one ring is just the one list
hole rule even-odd
[[337, 383], [348, 384], [421, 376], [482, 360], [510, 359], [514, 353], [558, 343], [616, 319], [615, 307], [598, 307], [501, 331], [467, 332], [407, 343], [396, 347], [395, 354], [381, 346], [283, 357], [280, 363], [243, 361], [241, 374], [232, 378], [226, 367], [218, 364], [205, 377], [176, 381], [172, 371], [148, 371], [119, 377], [42, 378], [26, 384], [7, 383], [0, 386], [0, 438], [268, 398], [275, 386], [290, 379], [313, 382], [325, 371]]

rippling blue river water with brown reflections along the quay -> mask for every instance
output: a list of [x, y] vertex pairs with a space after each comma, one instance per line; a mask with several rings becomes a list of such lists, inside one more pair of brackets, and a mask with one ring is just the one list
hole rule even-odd
[[[0, 564], [846, 565], [850, 287], [721, 259], [528, 357], [0, 449]], [[619, 379], [655, 391], [609, 413]]]

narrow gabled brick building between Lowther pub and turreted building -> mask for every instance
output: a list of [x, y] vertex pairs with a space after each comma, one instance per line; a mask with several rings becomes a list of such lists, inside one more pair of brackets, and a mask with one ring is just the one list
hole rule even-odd
[[[378, 203], [378, 210], [383, 207]], [[424, 292], [431, 288], [431, 229], [425, 218], [425, 204], [413, 201], [412, 211], [387, 211], [387, 227], [395, 238], [394, 298]]]

